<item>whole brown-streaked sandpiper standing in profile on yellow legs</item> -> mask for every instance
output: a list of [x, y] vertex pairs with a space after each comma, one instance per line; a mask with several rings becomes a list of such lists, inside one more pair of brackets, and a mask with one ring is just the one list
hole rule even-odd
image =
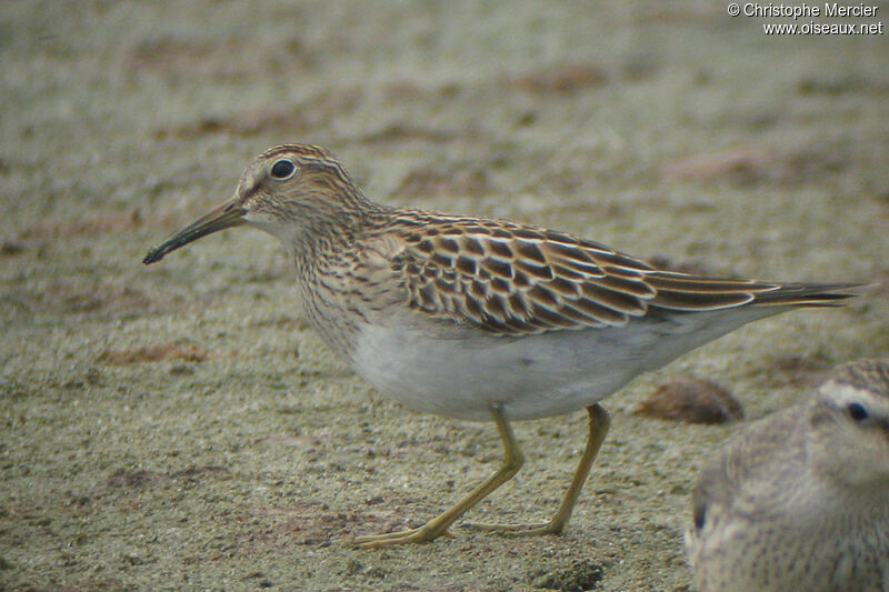
[[298, 143], [257, 157], [233, 197], [143, 263], [240, 225], [281, 242], [302, 315], [380, 393], [413, 411], [497, 427], [503, 460], [495, 473], [418, 528], [352, 538], [366, 548], [450, 534], [521, 468], [510, 422], [586, 409], [587, 443], [556, 515], [537, 525], [473, 524], [562, 532], [610, 424], [601, 399], [745, 323], [836, 307], [859, 285], [696, 277], [567, 232], [383, 205], [330, 151]]

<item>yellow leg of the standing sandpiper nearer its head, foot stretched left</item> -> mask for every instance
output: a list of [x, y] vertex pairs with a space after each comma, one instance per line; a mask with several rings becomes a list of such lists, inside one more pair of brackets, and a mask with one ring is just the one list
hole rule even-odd
[[[400, 532], [390, 532], [388, 534], [356, 536], [353, 539], [347, 539], [343, 542], [347, 544], [357, 544], [362, 548], [379, 548], [390, 544], [423, 543], [432, 541], [441, 535], [447, 534], [448, 528], [461, 515], [463, 515], [467, 510], [490, 495], [491, 492], [493, 492], [497, 488], [512, 479], [512, 476], [525, 463], [525, 456], [521, 453], [521, 449], [519, 449], [518, 442], [516, 442], [516, 437], [512, 435], [512, 428], [510, 428], [509, 422], [503, 415], [502, 409], [500, 409], [499, 405], [491, 408], [491, 415], [493, 415], [493, 421], [497, 424], [497, 431], [500, 433], [500, 440], [503, 442], [503, 463], [496, 473], [482, 481], [466, 498], [422, 526]], [[578, 490], [580, 488], [578, 488]]]

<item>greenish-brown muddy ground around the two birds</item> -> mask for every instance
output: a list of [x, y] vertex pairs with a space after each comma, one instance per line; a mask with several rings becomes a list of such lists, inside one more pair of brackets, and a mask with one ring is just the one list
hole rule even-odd
[[[0, 589], [690, 590], [689, 492], [742, 423], [633, 410], [685, 373], [748, 421], [802, 400], [889, 353], [885, 288], [608, 399], [565, 535], [362, 551], [336, 541], [419, 524], [492, 471], [492, 425], [356, 378], [260, 233], [140, 260], [256, 153], [301, 141], [379, 201], [713, 274], [885, 282], [889, 36], [762, 22], [691, 0], [0, 3]], [[557, 508], [583, 413], [516, 431], [526, 469], [469, 520]]]

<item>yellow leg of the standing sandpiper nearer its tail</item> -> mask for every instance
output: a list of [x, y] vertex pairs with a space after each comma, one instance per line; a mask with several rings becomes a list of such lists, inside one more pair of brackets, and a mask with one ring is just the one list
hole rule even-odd
[[590, 473], [592, 461], [599, 453], [602, 446], [608, 428], [611, 421], [608, 418], [608, 411], [598, 403], [587, 408], [587, 413], [590, 415], [589, 434], [587, 435], [587, 445], [583, 448], [583, 454], [580, 456], [580, 464], [578, 464], [575, 476], [571, 479], [571, 485], [562, 499], [562, 503], [552, 520], [546, 524], [463, 524], [465, 526], [483, 530], [496, 531], [510, 535], [526, 535], [526, 534], [558, 534], [568, 525], [568, 520], [571, 518], [571, 511], [575, 509], [577, 499], [580, 495], [580, 490], [583, 489], [583, 483], [587, 481], [587, 475]]

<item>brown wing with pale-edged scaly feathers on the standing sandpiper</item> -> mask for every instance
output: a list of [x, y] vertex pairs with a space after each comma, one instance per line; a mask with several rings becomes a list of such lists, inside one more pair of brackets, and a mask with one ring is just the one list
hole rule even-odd
[[848, 284], [722, 280], [650, 264], [550, 230], [404, 212], [394, 259], [411, 307], [507, 334], [620, 327], [652, 310], [709, 311], [757, 302], [831, 305]]

